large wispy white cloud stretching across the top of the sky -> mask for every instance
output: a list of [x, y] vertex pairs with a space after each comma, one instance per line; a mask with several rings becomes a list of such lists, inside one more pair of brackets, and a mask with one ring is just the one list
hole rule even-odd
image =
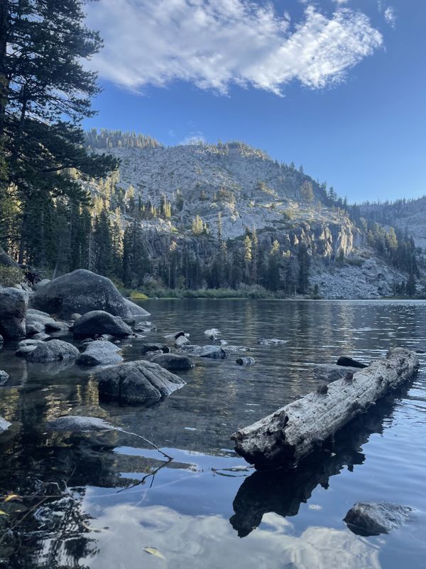
[[293, 28], [271, 5], [250, 0], [101, 0], [88, 23], [105, 41], [91, 62], [131, 90], [185, 80], [226, 94], [230, 85], [280, 94], [287, 83], [321, 88], [381, 46], [368, 17], [307, 6]]

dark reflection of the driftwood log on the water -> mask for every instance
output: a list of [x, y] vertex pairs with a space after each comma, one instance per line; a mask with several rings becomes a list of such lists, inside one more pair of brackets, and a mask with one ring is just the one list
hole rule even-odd
[[332, 448], [311, 454], [296, 469], [256, 471], [246, 478], [234, 499], [235, 514], [229, 519], [239, 537], [248, 536], [269, 512], [283, 517], [296, 516], [300, 504], [310, 499], [318, 485], [327, 489], [330, 477], [339, 474], [344, 467], [352, 471], [356, 464], [364, 464], [366, 456], [361, 445], [368, 442], [373, 433], [383, 433], [383, 422], [392, 417], [398, 399], [405, 397], [408, 390], [405, 386], [378, 401], [337, 432]]

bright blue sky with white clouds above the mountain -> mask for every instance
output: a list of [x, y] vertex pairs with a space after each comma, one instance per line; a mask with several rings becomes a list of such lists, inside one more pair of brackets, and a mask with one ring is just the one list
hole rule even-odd
[[87, 127], [239, 139], [349, 201], [426, 193], [425, 0], [100, 0]]

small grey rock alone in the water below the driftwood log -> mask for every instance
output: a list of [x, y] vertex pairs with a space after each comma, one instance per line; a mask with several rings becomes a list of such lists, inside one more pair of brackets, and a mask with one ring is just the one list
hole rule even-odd
[[412, 511], [408, 506], [388, 502], [356, 502], [344, 521], [359, 536], [378, 536], [401, 526]]

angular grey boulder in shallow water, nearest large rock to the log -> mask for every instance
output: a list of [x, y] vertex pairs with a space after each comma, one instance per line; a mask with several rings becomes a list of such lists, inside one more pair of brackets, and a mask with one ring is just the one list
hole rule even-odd
[[178, 376], [150, 361], [111, 366], [96, 375], [99, 395], [119, 403], [152, 405], [185, 385]]

